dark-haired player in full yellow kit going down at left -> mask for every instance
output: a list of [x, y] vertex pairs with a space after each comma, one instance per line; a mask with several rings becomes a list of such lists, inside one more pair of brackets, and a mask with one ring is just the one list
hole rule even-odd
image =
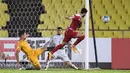
[[19, 41], [18, 41], [18, 46], [16, 50], [16, 60], [17, 60], [17, 66], [19, 65], [19, 52], [22, 51], [26, 54], [28, 60], [33, 64], [35, 69], [40, 70], [41, 66], [38, 61], [38, 56], [41, 53], [44, 53], [47, 49], [46, 48], [37, 48], [36, 50], [33, 50], [29, 43], [26, 41], [26, 38], [29, 35], [25, 31], [20, 31], [19, 32]]

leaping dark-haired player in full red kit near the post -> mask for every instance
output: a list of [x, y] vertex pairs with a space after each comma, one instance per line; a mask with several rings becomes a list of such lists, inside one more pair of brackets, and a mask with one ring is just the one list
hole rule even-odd
[[79, 14], [75, 14], [72, 17], [67, 16], [66, 18], [69, 20], [72, 20], [70, 27], [67, 28], [67, 30], [65, 31], [65, 35], [64, 35], [64, 39], [62, 44], [59, 44], [58, 46], [56, 46], [51, 52], [48, 53], [48, 60], [50, 60], [52, 58], [52, 55], [55, 51], [57, 51], [58, 49], [61, 49], [65, 44], [67, 44], [72, 38], [78, 38], [76, 40], [76, 42], [71, 45], [71, 48], [74, 52], [77, 51], [77, 49], [75, 48], [75, 46], [80, 43], [84, 38], [85, 35], [84, 34], [80, 34], [77, 30], [81, 27], [82, 22], [81, 22], [81, 18], [83, 18], [86, 13], [87, 13], [87, 9], [86, 8], [82, 8], [81, 12]]

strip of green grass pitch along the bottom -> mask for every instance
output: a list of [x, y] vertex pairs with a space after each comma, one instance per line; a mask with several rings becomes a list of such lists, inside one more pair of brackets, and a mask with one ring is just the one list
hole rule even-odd
[[73, 70], [73, 69], [48, 69], [41, 70], [18, 70], [0, 69], [0, 73], [130, 73], [130, 70]]

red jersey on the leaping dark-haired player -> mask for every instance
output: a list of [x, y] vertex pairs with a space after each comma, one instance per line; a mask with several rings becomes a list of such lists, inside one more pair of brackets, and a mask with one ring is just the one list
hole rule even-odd
[[75, 14], [74, 17], [72, 18], [72, 22], [69, 28], [77, 30], [81, 27], [81, 25], [82, 25], [81, 16], [79, 14]]

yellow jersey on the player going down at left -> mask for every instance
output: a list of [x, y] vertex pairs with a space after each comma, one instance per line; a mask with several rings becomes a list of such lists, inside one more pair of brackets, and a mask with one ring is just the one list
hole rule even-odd
[[27, 56], [30, 56], [33, 54], [33, 49], [30, 47], [28, 42], [26, 40], [19, 40], [17, 51], [23, 51]]

